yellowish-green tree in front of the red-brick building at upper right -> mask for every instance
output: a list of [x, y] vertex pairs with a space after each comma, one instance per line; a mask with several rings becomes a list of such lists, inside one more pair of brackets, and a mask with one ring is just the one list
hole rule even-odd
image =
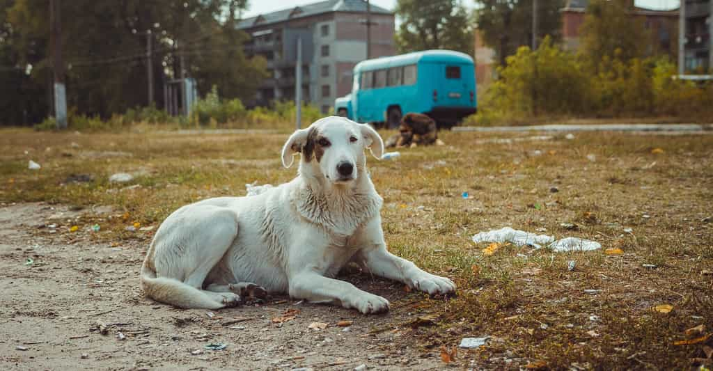
[[592, 0], [587, 7], [580, 51], [595, 68], [605, 56], [629, 61], [646, 53], [651, 38], [642, 20], [628, 14], [630, 4], [627, 0]]

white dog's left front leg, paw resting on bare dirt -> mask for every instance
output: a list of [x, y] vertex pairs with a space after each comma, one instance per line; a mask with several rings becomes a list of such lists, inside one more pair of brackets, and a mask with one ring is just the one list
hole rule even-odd
[[289, 277], [289, 296], [314, 303], [336, 303], [344, 308], [355, 308], [364, 314], [389, 310], [389, 301], [381, 296], [361, 291], [352, 283], [327, 278], [304, 268]]

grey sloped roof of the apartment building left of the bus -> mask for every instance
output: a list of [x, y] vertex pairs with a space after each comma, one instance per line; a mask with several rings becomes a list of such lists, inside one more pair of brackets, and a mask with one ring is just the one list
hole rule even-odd
[[[237, 23], [237, 28], [251, 28], [266, 24], [289, 21], [317, 14], [331, 13], [333, 11], [366, 13], [366, 1], [364, 0], [327, 0], [303, 6], [293, 6], [289, 9], [273, 11], [272, 13], [260, 14], [258, 16], [241, 19]], [[394, 14], [381, 6], [371, 5], [371, 13]]]

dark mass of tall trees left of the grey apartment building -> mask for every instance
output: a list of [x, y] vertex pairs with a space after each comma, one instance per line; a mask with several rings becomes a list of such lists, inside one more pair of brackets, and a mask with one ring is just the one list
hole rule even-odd
[[[264, 59], [242, 53], [247, 35], [235, 28], [246, 0], [72, 0], [61, 6], [67, 100], [77, 113], [108, 117], [146, 105], [148, 38], [159, 107], [163, 81], [180, 75], [179, 54], [200, 94], [217, 85], [225, 98], [251, 98], [266, 75]], [[0, 124], [48, 114], [48, 10], [46, 0], [0, 0], [0, 104], [11, 107], [0, 111]], [[16, 93], [20, 88], [31, 102]]]

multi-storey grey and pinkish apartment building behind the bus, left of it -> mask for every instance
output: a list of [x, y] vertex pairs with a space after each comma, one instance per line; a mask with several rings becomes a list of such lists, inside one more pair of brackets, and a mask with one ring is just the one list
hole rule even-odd
[[[394, 14], [371, 5], [371, 58], [393, 56]], [[248, 56], [267, 59], [265, 79], [250, 105], [292, 100], [297, 38], [302, 39], [302, 97], [326, 113], [352, 90], [352, 69], [366, 59], [366, 1], [328, 0], [260, 14], [238, 23], [251, 38]]]

